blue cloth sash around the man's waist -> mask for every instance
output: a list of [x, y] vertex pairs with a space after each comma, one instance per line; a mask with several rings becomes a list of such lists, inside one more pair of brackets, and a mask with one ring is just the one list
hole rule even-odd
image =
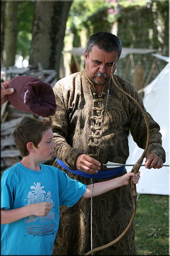
[[125, 166], [120, 166], [120, 167], [116, 167], [110, 170], [105, 170], [105, 171], [98, 171], [98, 173], [95, 174], [90, 174], [90, 173], [86, 173], [86, 172], [82, 172], [79, 170], [71, 170], [63, 161], [59, 160], [58, 158], [56, 158], [57, 163], [63, 167], [64, 169], [66, 169], [67, 171], [70, 171], [74, 174], [83, 176], [83, 177], [87, 177], [87, 178], [96, 178], [96, 179], [101, 179], [101, 178], [109, 178], [109, 177], [114, 177], [118, 174], [121, 174], [125, 171]]

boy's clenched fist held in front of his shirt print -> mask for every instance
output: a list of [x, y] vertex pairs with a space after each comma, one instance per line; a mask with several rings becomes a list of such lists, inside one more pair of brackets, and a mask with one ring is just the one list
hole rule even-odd
[[46, 216], [52, 209], [50, 202], [33, 203], [30, 204], [31, 215]]

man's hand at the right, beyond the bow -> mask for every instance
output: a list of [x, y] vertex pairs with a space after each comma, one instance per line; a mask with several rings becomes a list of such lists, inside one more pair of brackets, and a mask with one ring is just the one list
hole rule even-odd
[[145, 161], [146, 168], [159, 169], [159, 168], [162, 168], [162, 166], [163, 166], [163, 161], [159, 156], [157, 156], [155, 153], [151, 153], [148, 155], [148, 157]]

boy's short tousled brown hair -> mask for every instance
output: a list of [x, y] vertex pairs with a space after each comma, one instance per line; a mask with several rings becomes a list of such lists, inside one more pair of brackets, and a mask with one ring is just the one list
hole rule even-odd
[[32, 142], [38, 148], [43, 132], [50, 128], [52, 129], [52, 127], [52, 117], [36, 119], [30, 116], [24, 116], [20, 122], [17, 122], [12, 136], [21, 157], [29, 155], [29, 151], [27, 150], [28, 142]]

